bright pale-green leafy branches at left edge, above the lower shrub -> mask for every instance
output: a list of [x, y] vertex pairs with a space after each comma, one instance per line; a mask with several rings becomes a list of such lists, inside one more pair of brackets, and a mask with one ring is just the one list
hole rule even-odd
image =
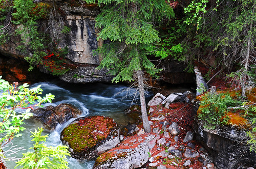
[[[1, 76], [0, 76], [1, 78]], [[7, 81], [0, 79], [0, 150], [9, 143], [13, 137], [18, 137], [25, 128], [20, 126], [24, 124], [24, 120], [32, 116], [31, 108], [39, 106], [44, 102], [51, 102], [54, 95], [47, 94], [40, 97], [42, 89], [40, 86], [29, 89], [29, 85], [24, 83], [18, 86], [18, 83], [10, 85]], [[17, 108], [25, 109], [24, 112], [17, 113]]]

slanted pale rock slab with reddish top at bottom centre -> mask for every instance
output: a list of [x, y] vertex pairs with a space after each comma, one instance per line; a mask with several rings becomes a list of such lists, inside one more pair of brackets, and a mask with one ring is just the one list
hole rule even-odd
[[140, 137], [129, 137], [122, 141], [117, 148], [100, 154], [93, 168], [122, 168], [131, 169], [141, 167], [148, 161], [148, 142], [157, 135], [144, 134]]

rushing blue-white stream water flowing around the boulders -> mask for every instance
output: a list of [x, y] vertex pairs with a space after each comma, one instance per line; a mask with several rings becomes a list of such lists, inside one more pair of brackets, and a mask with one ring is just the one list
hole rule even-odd
[[[68, 84], [65, 82], [40, 82], [35, 83], [32, 87], [41, 85], [41, 89], [44, 90], [43, 95], [47, 93], [52, 93], [55, 95], [55, 100], [52, 103], [46, 103], [48, 105], [58, 105], [60, 103], [70, 103], [82, 110], [81, 116], [94, 116], [94, 115], [104, 115], [109, 116], [119, 124], [127, 125], [129, 123], [129, 118], [124, 115], [124, 109], [129, 108], [131, 102], [134, 99], [134, 94], [136, 89], [129, 89], [122, 85], [108, 85], [103, 83], [93, 83], [93, 84]], [[146, 98], [149, 99], [153, 95], [148, 93]], [[135, 99], [138, 102], [137, 99]], [[53, 132], [47, 130], [44, 134], [49, 134], [47, 138], [47, 146], [58, 146], [61, 145], [60, 132], [65, 128], [69, 122], [58, 125]], [[26, 128], [23, 131], [23, 135], [18, 138], [14, 138], [12, 141], [13, 146], [23, 147], [24, 150], [19, 151], [16, 156], [17, 158], [22, 157], [22, 153], [28, 151], [30, 147], [33, 146], [31, 142], [31, 133], [38, 127], [40, 128], [42, 124], [33, 118], [25, 121]], [[5, 150], [7, 150], [6, 148]], [[12, 155], [13, 156], [13, 155]], [[94, 161], [78, 161], [74, 158], [68, 157], [69, 167], [74, 169], [79, 168], [92, 168]], [[14, 168], [14, 161], [7, 161], [8, 168]]]

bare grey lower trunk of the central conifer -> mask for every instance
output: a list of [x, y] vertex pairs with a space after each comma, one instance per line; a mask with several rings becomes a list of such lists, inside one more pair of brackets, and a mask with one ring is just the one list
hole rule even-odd
[[148, 122], [147, 112], [146, 112], [146, 101], [145, 101], [145, 93], [144, 93], [144, 82], [142, 78], [142, 71], [137, 70], [137, 78], [139, 83], [139, 93], [140, 93], [140, 105], [141, 105], [141, 115], [143, 121], [143, 128], [145, 132], [151, 132], [150, 123]]

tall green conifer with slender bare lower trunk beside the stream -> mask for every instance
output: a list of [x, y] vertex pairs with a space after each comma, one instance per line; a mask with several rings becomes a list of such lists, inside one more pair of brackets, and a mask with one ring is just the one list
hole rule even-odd
[[108, 68], [115, 75], [113, 82], [138, 80], [143, 127], [150, 132], [144, 98], [143, 72], [156, 76], [161, 69], [148, 60], [148, 48], [159, 42], [155, 23], [174, 17], [173, 9], [164, 0], [84, 0], [98, 3], [96, 17], [100, 29], [98, 39], [110, 43], [97, 51], [104, 58], [99, 68]]

